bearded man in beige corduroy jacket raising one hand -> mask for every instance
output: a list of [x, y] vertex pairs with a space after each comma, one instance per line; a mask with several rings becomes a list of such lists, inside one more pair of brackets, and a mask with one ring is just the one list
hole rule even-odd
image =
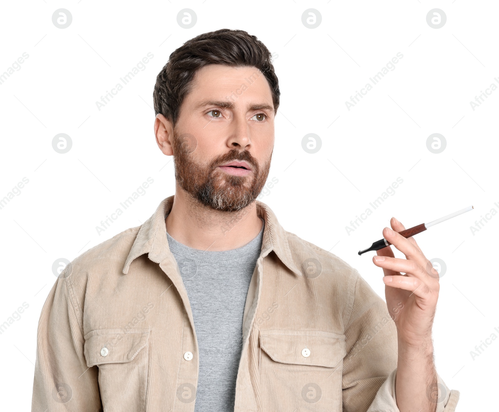
[[32, 411], [454, 411], [433, 364], [438, 274], [404, 226], [383, 236], [407, 259], [373, 258], [385, 304], [256, 201], [279, 105], [268, 49], [199, 35], [170, 55], [154, 105], [175, 196], [62, 272]]

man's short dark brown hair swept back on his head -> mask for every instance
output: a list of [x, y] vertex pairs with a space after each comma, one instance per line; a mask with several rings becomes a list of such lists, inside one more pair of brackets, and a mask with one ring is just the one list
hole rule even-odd
[[180, 106], [190, 91], [196, 71], [207, 64], [254, 66], [268, 81], [274, 113], [279, 106], [279, 84], [267, 47], [244, 30], [223, 28], [200, 34], [177, 48], [156, 77], [155, 114], [161, 113], [175, 126]]

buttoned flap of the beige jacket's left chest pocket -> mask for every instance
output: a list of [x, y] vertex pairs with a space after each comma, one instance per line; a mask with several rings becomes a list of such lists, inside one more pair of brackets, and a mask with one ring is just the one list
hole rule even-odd
[[130, 362], [147, 345], [149, 329], [97, 329], [84, 337], [87, 366]]

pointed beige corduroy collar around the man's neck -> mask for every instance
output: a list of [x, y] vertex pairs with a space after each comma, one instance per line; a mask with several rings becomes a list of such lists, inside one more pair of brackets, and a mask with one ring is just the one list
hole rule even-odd
[[[167, 258], [170, 248], [166, 236], [165, 217], [172, 210], [174, 197], [175, 195], [172, 195], [163, 199], [156, 212], [140, 227], [125, 261], [124, 275], [128, 273], [132, 261], [144, 253], [148, 253], [149, 259], [156, 263], [160, 263]], [[279, 224], [272, 210], [265, 203], [257, 200], [256, 214], [265, 221], [260, 256], [266, 256], [273, 250], [289, 270], [301, 276], [300, 270], [291, 258], [286, 231]], [[223, 231], [230, 229], [230, 226], [222, 228]]]

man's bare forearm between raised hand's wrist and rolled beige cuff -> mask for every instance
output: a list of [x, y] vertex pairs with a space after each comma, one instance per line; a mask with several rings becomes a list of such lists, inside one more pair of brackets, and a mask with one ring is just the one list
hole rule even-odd
[[398, 342], [395, 396], [401, 412], [435, 412], [437, 373], [431, 338], [420, 346]]

